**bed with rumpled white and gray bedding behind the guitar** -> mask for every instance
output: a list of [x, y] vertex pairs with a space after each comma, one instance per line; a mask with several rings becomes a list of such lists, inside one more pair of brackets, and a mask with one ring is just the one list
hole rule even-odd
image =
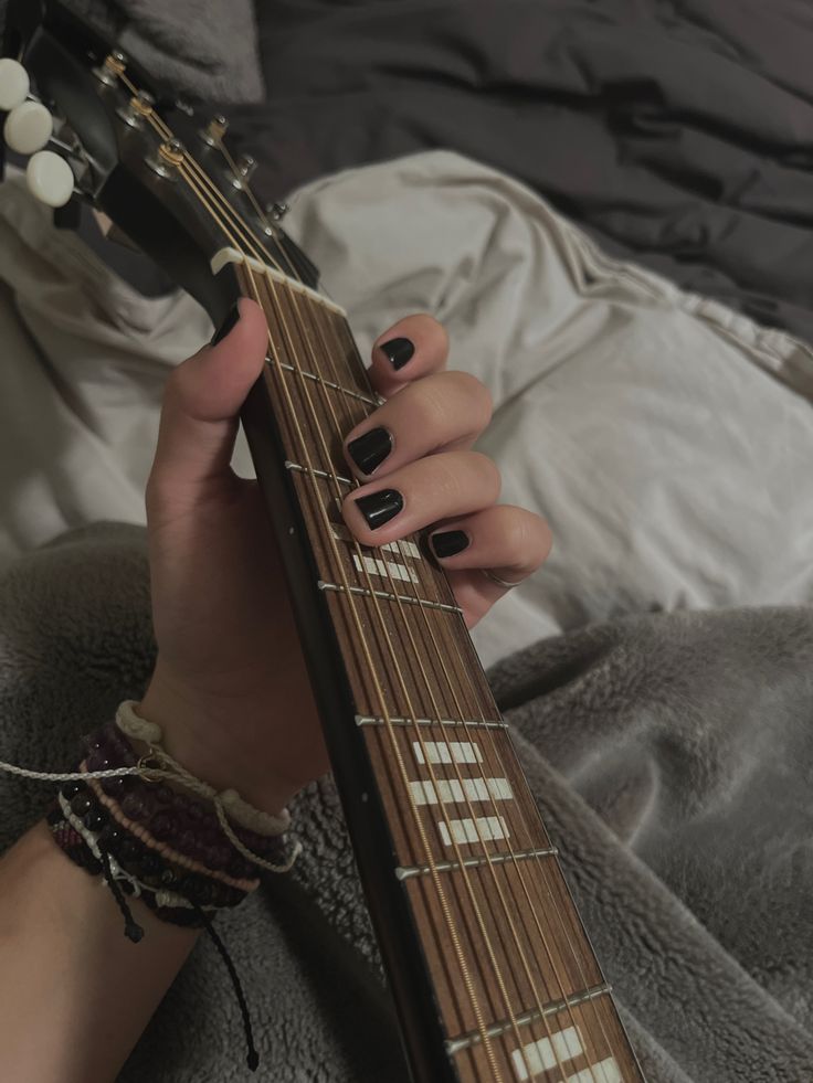
[[[217, 0], [186, 36], [175, 9], [95, 10], [188, 95], [239, 92], [234, 146], [362, 350], [431, 311], [492, 391], [482, 449], [556, 544], [476, 645], [650, 1079], [813, 1077], [813, 20], [790, 0], [274, 0], [255, 38], [231, 8], [232, 42], [205, 32]], [[0, 283], [0, 755], [55, 768], [148, 676], [144, 482], [166, 375], [211, 329], [55, 231], [19, 178]], [[40, 794], [0, 792], [10, 840]], [[224, 923], [268, 1055], [289, 1051], [268, 1077], [394, 1083], [329, 782], [297, 815], [293, 886]], [[177, 1043], [190, 1011], [234, 1023], [203, 948], [123, 1077], [240, 1077], [228, 1049]]]

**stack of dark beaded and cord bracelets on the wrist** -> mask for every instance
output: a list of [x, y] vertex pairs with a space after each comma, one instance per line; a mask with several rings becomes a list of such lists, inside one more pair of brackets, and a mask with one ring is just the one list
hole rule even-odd
[[[63, 785], [47, 821], [72, 861], [105, 877], [127, 935], [140, 938], [123, 896], [140, 898], [163, 921], [202, 927], [258, 886], [261, 868], [291, 868], [298, 843], [286, 841], [287, 814], [260, 813], [233, 790], [218, 795], [163, 752], [160, 730], [133, 708], [125, 701], [115, 723], [84, 739], [77, 773], [87, 778]], [[146, 753], [134, 732], [149, 737]]]

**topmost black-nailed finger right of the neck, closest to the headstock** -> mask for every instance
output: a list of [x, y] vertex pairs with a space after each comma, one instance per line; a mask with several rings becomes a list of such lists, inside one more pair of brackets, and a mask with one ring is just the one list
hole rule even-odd
[[372, 386], [390, 399], [408, 383], [440, 372], [448, 357], [448, 336], [431, 316], [408, 316], [379, 335], [372, 347]]

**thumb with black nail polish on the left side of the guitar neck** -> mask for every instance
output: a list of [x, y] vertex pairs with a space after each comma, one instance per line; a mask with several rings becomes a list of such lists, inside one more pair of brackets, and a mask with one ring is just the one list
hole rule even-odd
[[260, 306], [242, 298], [223, 329], [167, 381], [148, 482], [154, 495], [186, 501], [201, 485], [232, 477], [239, 412], [263, 370], [268, 327]]

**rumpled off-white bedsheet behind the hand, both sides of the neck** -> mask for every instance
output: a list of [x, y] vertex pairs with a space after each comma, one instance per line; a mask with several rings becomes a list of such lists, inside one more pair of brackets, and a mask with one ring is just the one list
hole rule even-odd
[[[293, 199], [288, 229], [362, 350], [430, 311], [495, 401], [503, 500], [549, 563], [475, 633], [486, 665], [626, 613], [813, 598], [813, 353], [613, 263], [514, 181], [436, 151]], [[0, 565], [97, 519], [144, 521], [169, 369], [211, 332], [145, 300], [24, 189], [0, 188]], [[241, 442], [235, 467], [251, 473]]]

